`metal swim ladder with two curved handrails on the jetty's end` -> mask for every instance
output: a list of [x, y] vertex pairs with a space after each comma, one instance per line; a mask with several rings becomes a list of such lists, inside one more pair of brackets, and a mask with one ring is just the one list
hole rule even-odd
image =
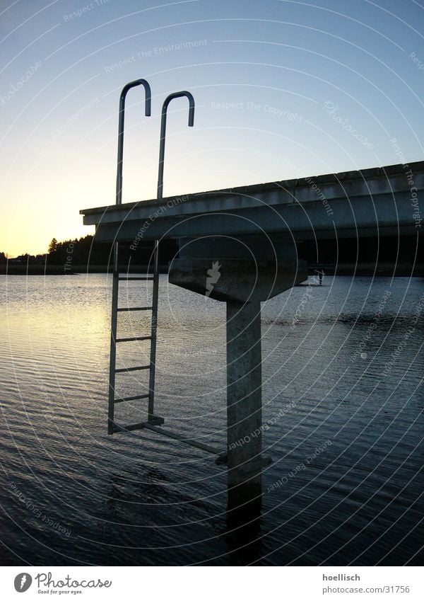
[[[119, 127], [118, 127], [118, 159], [117, 159], [117, 190], [116, 190], [116, 204], [122, 204], [122, 159], [124, 150], [124, 112], [125, 112], [125, 98], [126, 93], [134, 86], [142, 85], [146, 93], [146, 116], [151, 115], [151, 88], [145, 79], [137, 79], [126, 84], [122, 89], [121, 96], [119, 98]], [[189, 127], [193, 126], [194, 123], [194, 98], [191, 93], [187, 91], [175, 92], [167, 96], [162, 106], [162, 117], [160, 124], [160, 150], [159, 150], [159, 171], [158, 171], [158, 194], [157, 200], [160, 201], [163, 198], [163, 166], [165, 159], [165, 133], [166, 133], [166, 117], [167, 107], [173, 98], [180, 98], [186, 96], [189, 100]], [[119, 301], [119, 282], [129, 280], [144, 280], [153, 282], [152, 291], [152, 304], [148, 307], [118, 307]], [[155, 240], [153, 249], [153, 274], [143, 276], [122, 276], [119, 273], [119, 243], [114, 243], [113, 248], [113, 278], [112, 278], [112, 319], [110, 329], [110, 368], [109, 368], [109, 405], [108, 405], [108, 419], [107, 419], [107, 433], [113, 434], [116, 432], [131, 432], [132, 430], [139, 430], [141, 428], [155, 428], [155, 426], [164, 423], [163, 418], [155, 416], [155, 362], [156, 362], [156, 340], [157, 340], [157, 326], [158, 326], [158, 299], [159, 299], [159, 241]], [[117, 337], [118, 329], [118, 313], [121, 311], [151, 311], [151, 335], [150, 336], [129, 336], [126, 338]], [[129, 343], [139, 342], [142, 340], [150, 340], [150, 362], [148, 365], [139, 365], [136, 367], [122, 367], [117, 369], [116, 358], [117, 358], [117, 344], [118, 343]], [[115, 389], [116, 374], [134, 372], [139, 370], [149, 370], [149, 382], [148, 382], [148, 394], [136, 394], [134, 396], [118, 396]], [[134, 423], [130, 425], [119, 425], [114, 420], [114, 407], [117, 403], [123, 403], [126, 401], [139, 401], [148, 399], [148, 416], [147, 421], [140, 423]], [[161, 433], [165, 434], [165, 430], [160, 430]], [[179, 437], [174, 435], [172, 437]], [[199, 445], [196, 445], [199, 446]], [[202, 445], [204, 450], [208, 450], [209, 447]]]

